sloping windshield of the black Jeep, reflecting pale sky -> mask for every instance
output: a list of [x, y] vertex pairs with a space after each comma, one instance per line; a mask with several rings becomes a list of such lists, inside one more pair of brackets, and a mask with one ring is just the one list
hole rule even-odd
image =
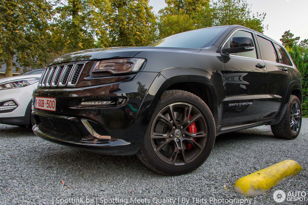
[[213, 44], [227, 26], [191, 30], [163, 38], [148, 46], [176, 48], [206, 48]]

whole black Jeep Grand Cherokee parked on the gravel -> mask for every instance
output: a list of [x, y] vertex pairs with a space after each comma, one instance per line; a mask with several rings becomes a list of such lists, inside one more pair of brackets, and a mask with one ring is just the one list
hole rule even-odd
[[33, 92], [33, 131], [181, 175], [205, 162], [222, 133], [271, 125], [274, 136], [296, 138], [300, 78], [278, 42], [237, 25], [83, 50], [45, 69]]

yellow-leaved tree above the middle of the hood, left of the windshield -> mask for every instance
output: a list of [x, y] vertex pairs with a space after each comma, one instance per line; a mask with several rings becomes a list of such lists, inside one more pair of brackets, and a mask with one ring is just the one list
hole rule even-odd
[[156, 40], [156, 17], [151, 10], [148, 0], [110, 0], [107, 23], [111, 45], [147, 46]]

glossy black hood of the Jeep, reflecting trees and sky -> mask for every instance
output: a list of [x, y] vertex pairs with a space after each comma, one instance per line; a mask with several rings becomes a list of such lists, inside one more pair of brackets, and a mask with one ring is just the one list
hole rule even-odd
[[104, 58], [132, 58], [137, 53], [146, 50], [156, 51], [179, 51], [179, 52], [199, 52], [200, 48], [171, 48], [171, 47], [110, 47], [81, 50], [60, 56], [50, 62], [49, 65], [73, 61], [96, 60]]

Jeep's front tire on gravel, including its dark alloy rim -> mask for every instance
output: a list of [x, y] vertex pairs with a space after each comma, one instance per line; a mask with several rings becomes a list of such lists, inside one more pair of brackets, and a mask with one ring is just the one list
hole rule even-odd
[[203, 100], [187, 91], [167, 90], [136, 155], [157, 173], [187, 174], [208, 158], [215, 135], [213, 115]]

